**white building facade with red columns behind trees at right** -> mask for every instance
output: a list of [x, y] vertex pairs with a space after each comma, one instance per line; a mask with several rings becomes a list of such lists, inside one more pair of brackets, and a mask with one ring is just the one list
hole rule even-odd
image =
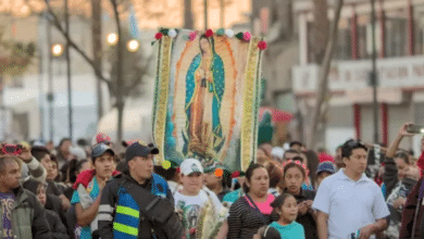
[[[328, 18], [336, 1], [328, 1]], [[373, 91], [371, 2], [345, 1], [338, 38], [328, 76], [329, 111], [325, 141], [331, 151], [348, 138], [373, 143]], [[296, 1], [299, 29], [299, 65], [291, 68], [297, 99], [313, 105], [319, 65], [311, 60], [313, 2]], [[424, 125], [424, 1], [375, 0], [377, 50], [377, 102], [379, 142], [389, 144], [406, 122]], [[401, 147], [417, 154], [420, 136]]]

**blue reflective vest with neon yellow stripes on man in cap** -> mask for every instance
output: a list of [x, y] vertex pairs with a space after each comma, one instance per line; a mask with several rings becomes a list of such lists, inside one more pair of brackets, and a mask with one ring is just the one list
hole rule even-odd
[[[157, 174], [152, 174], [152, 179], [151, 193], [166, 198], [166, 180]], [[117, 198], [113, 221], [113, 237], [120, 239], [137, 239], [140, 224], [140, 207], [123, 186], [120, 186]]]

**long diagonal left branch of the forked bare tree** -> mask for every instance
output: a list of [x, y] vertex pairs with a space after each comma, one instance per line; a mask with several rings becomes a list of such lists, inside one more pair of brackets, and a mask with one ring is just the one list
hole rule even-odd
[[72, 39], [70, 36], [66, 35], [66, 30], [62, 27], [58, 16], [54, 14], [53, 10], [51, 9], [51, 5], [49, 3], [49, 0], [45, 0], [46, 2], [46, 5], [47, 5], [47, 11], [49, 12], [49, 14], [52, 16], [52, 18], [48, 17], [48, 21], [50, 23], [52, 23], [57, 28], [58, 30], [63, 35], [63, 37], [67, 40], [68, 45], [74, 48], [83, 58], [84, 60], [86, 60], [86, 62], [88, 64], [91, 65], [92, 70], [95, 71], [95, 74], [97, 77], [99, 77], [101, 80], [103, 80], [107, 85], [108, 85], [108, 88], [110, 91], [114, 92], [115, 89], [114, 87], [112, 86], [111, 84], [111, 80], [110, 79], [107, 79], [103, 74], [101, 73], [101, 71], [96, 66], [95, 64], [95, 61], [92, 59], [90, 59], [86, 52], [84, 52]]

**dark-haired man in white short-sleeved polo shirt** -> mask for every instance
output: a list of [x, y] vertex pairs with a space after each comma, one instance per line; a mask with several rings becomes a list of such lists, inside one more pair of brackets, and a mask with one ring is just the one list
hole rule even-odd
[[312, 205], [319, 238], [375, 238], [386, 229], [389, 211], [379, 187], [364, 174], [366, 148], [349, 140], [341, 150], [346, 167], [323, 180]]

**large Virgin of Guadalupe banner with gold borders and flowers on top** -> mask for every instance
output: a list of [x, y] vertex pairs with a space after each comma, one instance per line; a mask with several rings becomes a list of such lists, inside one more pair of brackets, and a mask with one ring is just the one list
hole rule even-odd
[[[152, 133], [157, 163], [188, 158], [245, 172], [255, 158], [261, 52], [250, 33], [161, 29]], [[154, 43], [154, 41], [152, 42]]]

